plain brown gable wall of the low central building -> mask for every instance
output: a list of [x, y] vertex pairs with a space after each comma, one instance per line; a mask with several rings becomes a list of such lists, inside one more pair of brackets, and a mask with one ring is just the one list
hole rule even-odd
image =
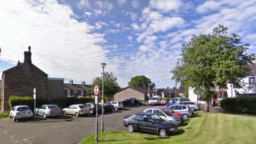
[[135, 91], [131, 88], [127, 88], [127, 89], [120, 91], [114, 95], [115, 101], [123, 101], [123, 100], [129, 99], [129, 98], [138, 98], [138, 99], [145, 100], [145, 94]]

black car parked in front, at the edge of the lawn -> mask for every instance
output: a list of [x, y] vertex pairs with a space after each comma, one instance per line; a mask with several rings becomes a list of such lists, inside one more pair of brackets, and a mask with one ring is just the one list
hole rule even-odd
[[165, 121], [161, 117], [152, 113], [138, 113], [124, 117], [124, 126], [129, 132], [145, 131], [159, 134], [160, 137], [165, 137], [167, 134], [176, 133], [177, 125]]

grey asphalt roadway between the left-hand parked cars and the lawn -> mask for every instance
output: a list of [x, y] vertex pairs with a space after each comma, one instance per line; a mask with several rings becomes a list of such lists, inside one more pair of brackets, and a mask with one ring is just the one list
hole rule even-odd
[[[104, 115], [105, 131], [126, 130], [123, 118], [139, 113], [149, 106], [131, 107], [112, 111]], [[98, 118], [101, 131], [101, 115]], [[0, 122], [0, 143], [79, 143], [83, 138], [95, 133], [95, 115], [78, 117], [75, 121], [51, 123]]]

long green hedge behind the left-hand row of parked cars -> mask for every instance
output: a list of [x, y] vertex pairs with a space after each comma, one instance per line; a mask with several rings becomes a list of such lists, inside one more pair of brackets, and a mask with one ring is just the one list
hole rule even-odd
[[[85, 97], [85, 98], [59, 97], [53, 100], [48, 100], [46, 98], [38, 97], [36, 98], [36, 107], [40, 107], [41, 105], [46, 105], [46, 104], [55, 104], [55, 105], [58, 105], [60, 108], [66, 108], [70, 105], [93, 102], [93, 101], [94, 101], [94, 97]], [[9, 98], [9, 106], [13, 108], [18, 105], [27, 105], [30, 107], [30, 109], [34, 109], [34, 99], [33, 97], [19, 97], [16, 95], [12, 95]]]

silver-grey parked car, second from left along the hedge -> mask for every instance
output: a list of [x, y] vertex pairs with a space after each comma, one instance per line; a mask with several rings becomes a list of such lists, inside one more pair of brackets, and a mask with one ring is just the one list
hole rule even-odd
[[39, 108], [36, 108], [36, 114], [39, 116], [51, 117], [51, 116], [60, 116], [61, 108], [57, 105], [42, 105]]

